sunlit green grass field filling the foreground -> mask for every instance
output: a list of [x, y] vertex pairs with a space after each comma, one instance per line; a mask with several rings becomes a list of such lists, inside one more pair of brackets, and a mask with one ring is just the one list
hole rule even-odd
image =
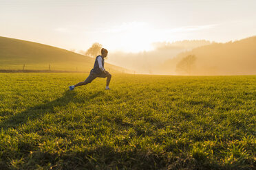
[[0, 73], [0, 169], [255, 169], [256, 76]]

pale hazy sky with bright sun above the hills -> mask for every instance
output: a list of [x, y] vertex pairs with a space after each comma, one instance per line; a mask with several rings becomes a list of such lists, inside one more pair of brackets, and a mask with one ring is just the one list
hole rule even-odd
[[93, 42], [115, 51], [152, 42], [256, 35], [255, 0], [0, 0], [0, 36], [77, 51]]

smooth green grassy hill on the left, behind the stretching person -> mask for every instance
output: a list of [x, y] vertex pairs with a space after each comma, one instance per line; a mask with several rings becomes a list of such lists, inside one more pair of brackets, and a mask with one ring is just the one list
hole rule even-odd
[[[90, 71], [94, 58], [36, 42], [0, 37], [0, 69], [51, 69], [62, 71]], [[106, 69], [122, 71], [107, 64]]]

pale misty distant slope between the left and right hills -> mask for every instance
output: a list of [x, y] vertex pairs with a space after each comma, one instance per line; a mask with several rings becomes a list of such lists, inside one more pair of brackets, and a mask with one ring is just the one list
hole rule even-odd
[[119, 66], [124, 66], [137, 73], [156, 74], [161, 73], [160, 65], [171, 58], [175, 58], [178, 53], [209, 44], [211, 44], [211, 42], [206, 40], [183, 40], [172, 43], [154, 42], [152, 44], [154, 50], [152, 51], [142, 51], [139, 53], [117, 51], [109, 53], [107, 61]]

